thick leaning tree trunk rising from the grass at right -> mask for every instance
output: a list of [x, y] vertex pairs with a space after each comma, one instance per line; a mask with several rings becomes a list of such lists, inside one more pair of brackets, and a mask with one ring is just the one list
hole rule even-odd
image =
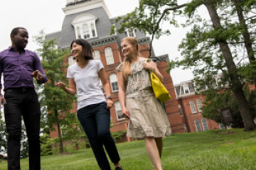
[[[222, 28], [220, 24], [220, 18], [218, 16], [215, 6], [211, 4], [211, 1], [205, 1], [204, 5], [208, 9], [208, 13], [213, 22], [214, 30], [219, 30], [219, 28]], [[233, 61], [230, 48], [228, 47], [228, 42], [222, 39], [219, 40], [218, 44], [220, 45], [220, 50], [223, 53], [223, 57], [225, 58], [225, 64], [227, 65], [228, 73], [230, 74], [230, 81], [233, 85], [232, 91], [238, 101], [238, 107], [242, 116], [242, 121], [245, 125], [245, 131], [248, 132], [251, 130], [255, 130], [256, 126], [252, 120], [252, 115], [250, 114], [250, 109], [245, 98], [245, 94], [242, 91], [242, 85], [240, 83], [240, 80], [238, 79], [237, 69]]]

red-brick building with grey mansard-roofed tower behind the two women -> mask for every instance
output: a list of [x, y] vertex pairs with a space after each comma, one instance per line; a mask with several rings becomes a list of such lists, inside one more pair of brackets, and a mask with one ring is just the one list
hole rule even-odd
[[[124, 56], [122, 55], [121, 50], [121, 40], [127, 36], [137, 38], [139, 41], [140, 55], [148, 57], [149, 51], [147, 49], [149, 49], [150, 38], [146, 37], [144, 33], [136, 28], [132, 31], [127, 30], [122, 34], [115, 33], [115, 35], [110, 35], [110, 27], [114, 25], [116, 28], [119, 28], [119, 24], [114, 23], [115, 18], [110, 17], [110, 11], [104, 0], [67, 0], [63, 12], [65, 13], [65, 18], [63, 20], [62, 30], [48, 34], [47, 39], [55, 38], [56, 42], [59, 43], [58, 47], [63, 50], [69, 48], [70, 43], [76, 38], [85, 38], [90, 42], [94, 50], [95, 60], [100, 60], [104, 65], [107, 81], [109, 81], [112, 88], [111, 95], [114, 107], [110, 109], [110, 112], [114, 127], [111, 131], [117, 132], [119, 130], [127, 129], [128, 120], [124, 119], [122, 116], [121, 106], [118, 101], [117, 72], [115, 71], [115, 68], [124, 61]], [[166, 89], [169, 90], [172, 97], [171, 100], [164, 103], [166, 114], [171, 123], [172, 132], [195, 132], [196, 130], [192, 125], [192, 117], [195, 117], [195, 115], [191, 116], [186, 108], [189, 99], [185, 100], [185, 98], [181, 98], [181, 95], [176, 95], [171, 76], [165, 72], [168, 67], [166, 62], [169, 61], [169, 56], [156, 56], [154, 50], [152, 50], [152, 56], [156, 60], [156, 65], [159, 71], [164, 76], [164, 85], [166, 86]], [[69, 57], [66, 62], [68, 62], [69, 65], [75, 63], [73, 57]], [[103, 88], [102, 91], [104, 91]], [[184, 106], [182, 117], [179, 106]], [[76, 112], [76, 108], [77, 105], [74, 103], [73, 112]], [[198, 116], [199, 115], [201, 114], [198, 114]], [[206, 121], [210, 122], [210, 120]], [[50, 136], [57, 137], [58, 132], [50, 132]], [[123, 141], [130, 140], [129, 137], [123, 137]]]

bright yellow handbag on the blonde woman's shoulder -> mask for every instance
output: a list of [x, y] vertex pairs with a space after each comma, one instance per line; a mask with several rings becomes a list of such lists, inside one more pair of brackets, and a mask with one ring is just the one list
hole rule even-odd
[[[149, 58], [146, 59], [146, 62], [149, 62]], [[169, 91], [165, 88], [164, 84], [161, 83], [159, 78], [156, 77], [156, 75], [153, 72], [150, 72], [150, 78], [152, 89], [154, 91], [156, 98], [159, 99], [161, 103], [171, 99]]]

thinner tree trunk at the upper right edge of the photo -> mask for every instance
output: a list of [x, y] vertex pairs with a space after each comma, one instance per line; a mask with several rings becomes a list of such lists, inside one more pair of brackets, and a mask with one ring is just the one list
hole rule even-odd
[[[242, 37], [245, 40], [245, 48], [247, 50], [247, 55], [250, 61], [250, 64], [252, 64], [252, 62], [255, 62], [255, 52], [252, 49], [252, 40], [250, 39], [250, 33], [247, 29], [246, 23], [245, 23], [245, 17], [242, 14], [242, 7], [241, 7], [241, 0], [233, 0], [234, 4], [235, 4], [235, 10], [238, 13], [238, 19], [240, 22], [240, 25], [242, 26]], [[255, 84], [255, 89], [256, 89], [256, 77], [253, 77], [253, 82]]]

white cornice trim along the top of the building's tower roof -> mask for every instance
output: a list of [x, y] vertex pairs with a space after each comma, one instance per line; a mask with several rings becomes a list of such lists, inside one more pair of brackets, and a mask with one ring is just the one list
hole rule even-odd
[[110, 18], [111, 14], [104, 0], [86, 1], [84, 3], [67, 6], [65, 8], [62, 8], [62, 10], [65, 13], [65, 15], [70, 15], [73, 13], [79, 13], [82, 11], [87, 11], [98, 7], [103, 7], [107, 13], [107, 16]]

